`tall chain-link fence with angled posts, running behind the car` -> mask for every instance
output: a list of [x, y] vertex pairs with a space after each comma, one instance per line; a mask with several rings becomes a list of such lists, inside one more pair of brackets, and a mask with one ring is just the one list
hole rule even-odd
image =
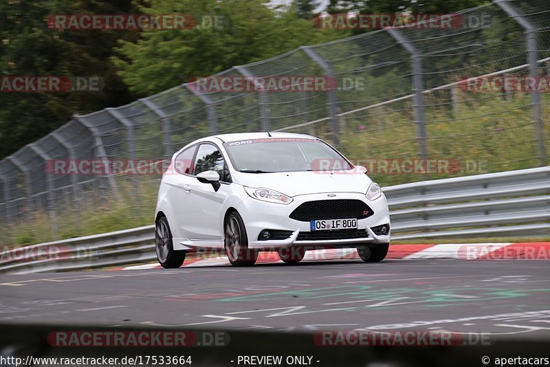
[[[211, 78], [285, 76], [325, 76], [337, 87], [203, 91], [195, 82], [74, 115], [0, 162], [2, 241], [76, 236], [106, 213], [109, 223], [101, 230], [149, 223], [162, 172], [57, 174], [55, 162], [153, 165], [214, 133], [316, 135], [359, 163], [377, 162], [370, 175], [384, 185], [547, 165], [548, 89], [475, 89], [482, 76], [550, 77], [547, 0], [496, 0], [452, 14], [446, 27], [426, 21], [386, 28], [300, 47]], [[391, 171], [406, 159], [452, 160], [454, 169]], [[46, 235], [27, 236], [30, 229]]]

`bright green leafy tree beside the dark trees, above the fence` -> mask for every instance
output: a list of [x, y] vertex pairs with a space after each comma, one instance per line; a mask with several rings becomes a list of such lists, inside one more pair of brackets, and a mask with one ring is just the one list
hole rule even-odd
[[[135, 93], [155, 93], [287, 52], [301, 45], [330, 41], [347, 32], [319, 30], [295, 10], [271, 9], [268, 0], [151, 0], [148, 14], [206, 14], [220, 27], [142, 32], [137, 42], [122, 41], [113, 57], [119, 75]], [[207, 18], [208, 19], [208, 18]], [[199, 24], [201, 17], [199, 16]]]

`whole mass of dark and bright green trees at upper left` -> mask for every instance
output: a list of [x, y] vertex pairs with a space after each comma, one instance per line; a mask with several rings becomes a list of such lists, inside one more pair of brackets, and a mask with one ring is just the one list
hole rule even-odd
[[[349, 35], [317, 29], [310, 20], [300, 19], [296, 8], [272, 9], [268, 4], [268, 0], [0, 1], [2, 76], [99, 76], [104, 80], [104, 89], [93, 93], [2, 93], [1, 157], [65, 124], [75, 112], [117, 107], [194, 76], [209, 76], [300, 45]], [[139, 12], [192, 14], [200, 27], [60, 32], [47, 26], [52, 14]], [[223, 17], [221, 28], [206, 26], [214, 15]]]

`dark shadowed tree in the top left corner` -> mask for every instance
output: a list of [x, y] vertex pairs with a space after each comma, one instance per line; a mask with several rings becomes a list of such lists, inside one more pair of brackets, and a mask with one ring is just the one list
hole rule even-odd
[[2, 76], [99, 76], [100, 92], [1, 93], [0, 156], [65, 124], [76, 111], [87, 113], [131, 100], [109, 57], [119, 38], [132, 32], [66, 31], [47, 26], [51, 14], [113, 14], [132, 9], [130, 0], [1, 1]]

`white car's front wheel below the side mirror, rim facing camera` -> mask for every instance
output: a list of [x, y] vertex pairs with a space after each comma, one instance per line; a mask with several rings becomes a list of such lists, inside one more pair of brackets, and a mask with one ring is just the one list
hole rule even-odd
[[225, 252], [234, 266], [252, 266], [258, 259], [258, 252], [248, 248], [245, 223], [237, 212], [229, 214], [225, 221]]

